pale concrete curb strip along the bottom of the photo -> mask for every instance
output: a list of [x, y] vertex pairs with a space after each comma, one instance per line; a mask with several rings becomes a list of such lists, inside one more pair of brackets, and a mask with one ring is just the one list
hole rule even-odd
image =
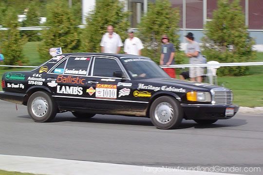
[[0, 169], [42, 175], [233, 175], [161, 167], [10, 155], [0, 155]]

